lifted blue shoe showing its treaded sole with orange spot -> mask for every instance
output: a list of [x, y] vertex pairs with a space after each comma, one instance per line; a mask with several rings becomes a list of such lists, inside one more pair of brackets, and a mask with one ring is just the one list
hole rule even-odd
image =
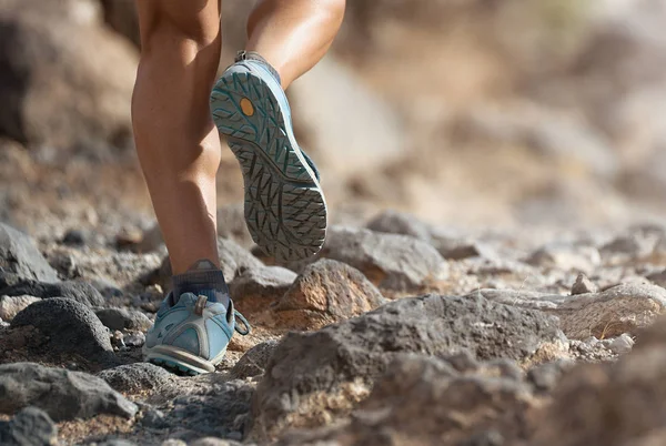
[[211, 112], [241, 164], [254, 242], [279, 261], [316, 254], [326, 202], [316, 166], [294, 138], [279, 74], [260, 55], [240, 52], [213, 88]]

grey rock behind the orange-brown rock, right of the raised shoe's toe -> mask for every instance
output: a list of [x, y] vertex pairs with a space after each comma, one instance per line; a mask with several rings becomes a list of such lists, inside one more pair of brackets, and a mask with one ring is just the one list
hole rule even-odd
[[322, 257], [361, 271], [380, 288], [416, 291], [448, 277], [448, 265], [424, 241], [370, 230], [331, 227]]

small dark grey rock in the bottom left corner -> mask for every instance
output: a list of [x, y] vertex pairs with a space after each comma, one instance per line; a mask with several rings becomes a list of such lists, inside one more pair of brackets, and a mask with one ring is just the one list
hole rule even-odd
[[37, 407], [26, 407], [9, 422], [0, 420], [0, 444], [4, 446], [50, 446], [57, 437], [58, 427]]

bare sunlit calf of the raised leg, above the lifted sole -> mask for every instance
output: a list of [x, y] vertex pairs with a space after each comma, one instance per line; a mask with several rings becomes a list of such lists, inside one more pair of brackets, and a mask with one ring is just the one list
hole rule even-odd
[[263, 55], [286, 89], [324, 57], [344, 7], [345, 0], [263, 0], [250, 14], [246, 50]]

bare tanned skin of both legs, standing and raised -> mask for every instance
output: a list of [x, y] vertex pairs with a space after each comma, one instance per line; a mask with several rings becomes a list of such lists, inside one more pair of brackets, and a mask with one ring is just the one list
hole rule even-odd
[[[241, 1], [241, 0], [236, 0]], [[264, 0], [248, 20], [245, 50], [286, 89], [331, 45], [345, 0]], [[219, 0], [138, 0], [141, 61], [132, 98], [139, 161], [173, 274], [219, 266], [215, 174], [221, 144], [209, 95], [220, 62]]]

